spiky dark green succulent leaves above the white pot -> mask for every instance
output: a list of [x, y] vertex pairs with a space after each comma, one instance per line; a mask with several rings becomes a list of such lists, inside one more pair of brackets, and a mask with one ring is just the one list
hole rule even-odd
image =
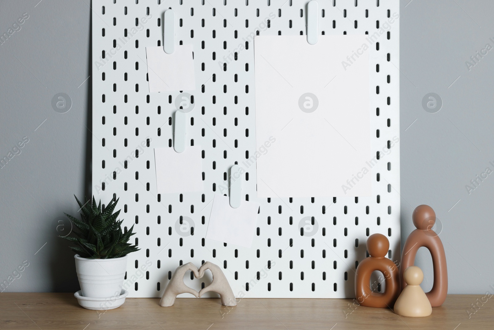
[[92, 203], [86, 202], [87, 206], [82, 204], [77, 197], [76, 200], [82, 210], [81, 220], [64, 213], [79, 229], [79, 232], [73, 232], [75, 236], [63, 237], [78, 244], [78, 246], [71, 247], [72, 251], [82, 258], [111, 259], [139, 250], [136, 245], [127, 243], [130, 236], [135, 234], [132, 233], [134, 226], [132, 225], [130, 230], [123, 233], [122, 222], [124, 220], [117, 220], [120, 210], [113, 213], [119, 199], [115, 201], [112, 199], [104, 210], [101, 210], [101, 200], [99, 205], [96, 205], [94, 196]]

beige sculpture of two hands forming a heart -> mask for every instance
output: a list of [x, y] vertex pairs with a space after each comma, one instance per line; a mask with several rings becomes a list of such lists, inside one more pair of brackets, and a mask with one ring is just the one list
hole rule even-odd
[[[204, 276], [206, 269], [209, 269], [213, 276], [213, 280], [209, 285], [201, 289], [201, 291], [199, 292], [185, 285], [183, 278], [187, 271], [192, 271], [196, 279], [201, 279]], [[193, 263], [189, 262], [187, 264], [179, 266], [175, 270], [175, 273], [173, 273], [170, 282], [168, 282], [168, 285], [166, 285], [165, 292], [163, 292], [163, 296], [160, 300], [160, 306], [172, 306], [175, 303], [176, 296], [180, 293], [188, 292], [192, 293], [196, 297], [202, 297], [204, 293], [209, 291], [219, 293], [222, 305], [237, 305], [237, 301], [235, 300], [235, 295], [233, 294], [232, 288], [226, 280], [225, 275], [221, 271], [221, 268], [209, 261], [206, 261], [201, 266], [201, 268], [197, 269], [197, 267]]]

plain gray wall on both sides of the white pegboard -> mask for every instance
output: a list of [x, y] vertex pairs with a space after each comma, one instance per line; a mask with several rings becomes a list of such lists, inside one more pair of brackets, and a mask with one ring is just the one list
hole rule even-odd
[[[0, 169], [0, 282], [27, 260], [6, 291], [74, 292], [73, 253], [57, 236], [70, 230], [63, 212], [77, 213], [73, 194], [90, 194], [90, 8], [89, 0], [38, 2], [0, 2], [1, 34], [29, 14], [0, 45], [0, 155], [29, 138]], [[486, 167], [494, 170], [494, 50], [470, 70], [465, 64], [487, 43], [494, 47], [493, 10], [489, 0], [401, 1], [402, 242], [413, 208], [431, 205], [449, 293], [480, 294], [494, 284], [494, 174], [465, 188]], [[70, 111], [53, 110], [57, 93], [70, 96]], [[440, 95], [440, 111], [424, 110], [428, 93]], [[428, 290], [432, 261], [423, 249], [416, 264]]]

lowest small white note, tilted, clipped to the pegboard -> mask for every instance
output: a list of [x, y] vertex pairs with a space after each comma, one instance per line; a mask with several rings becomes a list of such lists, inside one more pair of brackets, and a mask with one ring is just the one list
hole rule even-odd
[[258, 203], [245, 200], [234, 209], [227, 196], [215, 194], [206, 238], [250, 247], [255, 235], [258, 210]]

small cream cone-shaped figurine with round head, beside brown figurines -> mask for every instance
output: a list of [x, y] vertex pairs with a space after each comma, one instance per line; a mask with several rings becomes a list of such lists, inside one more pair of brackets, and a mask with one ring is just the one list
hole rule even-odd
[[407, 286], [395, 303], [395, 313], [402, 316], [424, 317], [432, 314], [432, 307], [420, 283], [424, 273], [417, 266], [410, 266], [403, 275]]

